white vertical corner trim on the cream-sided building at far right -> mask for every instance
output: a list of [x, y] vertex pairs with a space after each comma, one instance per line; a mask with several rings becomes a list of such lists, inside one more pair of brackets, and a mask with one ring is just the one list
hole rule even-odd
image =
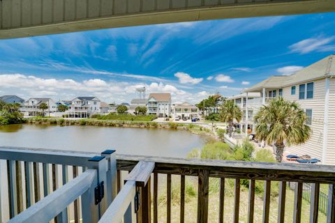
[[322, 164], [326, 164], [327, 144], [328, 144], [328, 116], [329, 116], [329, 78], [325, 80], [325, 114], [323, 119], [323, 145], [322, 145]]

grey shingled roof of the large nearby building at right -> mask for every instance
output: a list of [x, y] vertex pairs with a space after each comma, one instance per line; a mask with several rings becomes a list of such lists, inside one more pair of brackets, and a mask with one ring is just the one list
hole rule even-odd
[[244, 92], [262, 91], [265, 89], [278, 89], [292, 84], [308, 82], [314, 79], [320, 79], [335, 75], [335, 55], [329, 55], [324, 59], [317, 61], [304, 69], [288, 76], [271, 76], [264, 81], [251, 86]]

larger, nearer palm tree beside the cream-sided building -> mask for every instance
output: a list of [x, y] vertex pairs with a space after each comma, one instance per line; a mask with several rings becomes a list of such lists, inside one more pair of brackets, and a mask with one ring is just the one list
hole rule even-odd
[[311, 137], [307, 116], [297, 102], [276, 98], [255, 115], [256, 137], [274, 144], [276, 160], [281, 162], [285, 145], [304, 144]]

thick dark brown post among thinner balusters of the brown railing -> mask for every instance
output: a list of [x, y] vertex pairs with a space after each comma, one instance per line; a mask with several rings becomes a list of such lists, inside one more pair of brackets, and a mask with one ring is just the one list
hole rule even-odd
[[208, 221], [209, 171], [200, 169], [198, 176], [198, 223]]

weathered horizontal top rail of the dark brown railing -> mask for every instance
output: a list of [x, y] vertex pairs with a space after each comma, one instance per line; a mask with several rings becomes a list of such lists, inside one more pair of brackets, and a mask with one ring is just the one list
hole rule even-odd
[[195, 160], [119, 154], [117, 169], [131, 171], [139, 161], [154, 162], [154, 173], [158, 174], [199, 176], [199, 170], [206, 169], [209, 171], [209, 177], [214, 178], [335, 183], [334, 166], [329, 165]]

